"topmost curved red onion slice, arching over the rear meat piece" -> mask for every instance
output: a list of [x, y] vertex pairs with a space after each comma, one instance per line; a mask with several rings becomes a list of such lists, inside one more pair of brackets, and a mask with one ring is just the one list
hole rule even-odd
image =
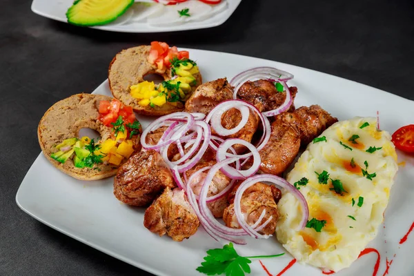
[[276, 79], [278, 81], [288, 81], [293, 79], [289, 72], [282, 71], [273, 67], [257, 67], [245, 70], [231, 79], [230, 85], [234, 87], [235, 94], [233, 99], [237, 99], [237, 92], [246, 81], [255, 81], [257, 79]]

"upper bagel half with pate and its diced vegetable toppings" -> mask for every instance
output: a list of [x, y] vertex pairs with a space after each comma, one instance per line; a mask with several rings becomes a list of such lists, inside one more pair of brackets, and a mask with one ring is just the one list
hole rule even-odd
[[[119, 52], [112, 59], [108, 80], [112, 95], [141, 115], [162, 116], [184, 110], [186, 100], [202, 82], [197, 63], [187, 51], [153, 41]], [[159, 75], [159, 85], [144, 80]]]

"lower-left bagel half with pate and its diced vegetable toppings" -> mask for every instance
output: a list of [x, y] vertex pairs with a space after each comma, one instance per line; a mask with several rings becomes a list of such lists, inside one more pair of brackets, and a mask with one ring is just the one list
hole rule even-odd
[[[81, 128], [96, 130], [101, 139], [78, 138]], [[118, 167], [140, 150], [141, 125], [132, 108], [115, 99], [77, 94], [46, 111], [37, 135], [53, 166], [71, 177], [95, 180], [115, 175]]]

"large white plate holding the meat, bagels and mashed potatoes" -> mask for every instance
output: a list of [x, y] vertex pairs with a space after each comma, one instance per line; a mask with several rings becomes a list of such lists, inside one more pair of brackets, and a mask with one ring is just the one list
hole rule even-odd
[[[295, 75], [289, 84], [299, 89], [295, 100], [297, 107], [319, 104], [339, 120], [354, 116], [377, 116], [379, 111], [380, 127], [389, 132], [412, 123], [414, 117], [413, 101], [354, 81], [275, 61], [223, 52], [187, 50], [199, 64], [204, 81], [231, 78], [242, 70], [256, 66], [274, 66]], [[94, 93], [110, 95], [108, 81], [104, 81]], [[150, 122], [145, 117], [138, 119], [144, 127]], [[377, 237], [368, 247], [380, 252], [378, 275], [384, 273], [388, 258], [389, 262], [393, 260], [390, 275], [412, 276], [414, 233], [408, 236], [404, 244], [399, 242], [414, 221], [414, 159], [402, 152], [398, 152], [398, 159], [406, 164], [400, 166], [391, 190], [385, 228], [380, 226]], [[173, 242], [169, 237], [150, 233], [143, 226], [144, 208], [130, 208], [121, 204], [112, 195], [112, 184], [112, 178], [76, 180], [57, 170], [40, 154], [23, 179], [16, 199], [20, 208], [44, 224], [156, 275], [198, 275], [195, 268], [203, 262], [206, 250], [221, 247], [202, 228], [184, 242]], [[275, 237], [267, 240], [250, 239], [247, 246], [236, 246], [236, 249], [245, 256], [284, 252]], [[286, 254], [262, 262], [272, 275], [277, 275], [292, 259]], [[373, 275], [376, 259], [375, 254], [366, 255], [337, 275]], [[258, 261], [254, 261], [251, 268], [251, 275], [266, 275]], [[313, 276], [322, 273], [317, 268], [295, 264], [284, 275]]]

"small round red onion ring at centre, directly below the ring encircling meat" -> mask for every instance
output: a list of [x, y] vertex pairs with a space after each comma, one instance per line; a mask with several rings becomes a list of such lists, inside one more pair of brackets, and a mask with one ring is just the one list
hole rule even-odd
[[[232, 139], [227, 139], [226, 141], [221, 143], [221, 145], [219, 146], [219, 149], [217, 150], [217, 155], [216, 155], [217, 163], [226, 159], [226, 155], [230, 155], [229, 153], [227, 153], [227, 150], [235, 144], [241, 144], [245, 146], [246, 148], [248, 148], [248, 150], [250, 150], [251, 154], [250, 155], [247, 154], [244, 156], [249, 157], [253, 155], [253, 164], [247, 170], [236, 170], [235, 168], [232, 168], [226, 164], [221, 168], [221, 172], [223, 172], [224, 175], [226, 175], [227, 177], [230, 177], [231, 179], [246, 179], [247, 177], [251, 177], [252, 175], [255, 175], [257, 170], [259, 170], [260, 163], [261, 163], [260, 154], [257, 148], [253, 146], [253, 144], [250, 144], [248, 141], [245, 141], [243, 139], [232, 138]], [[233, 155], [233, 156], [239, 159], [241, 158], [241, 156], [236, 156], [236, 155]]]

